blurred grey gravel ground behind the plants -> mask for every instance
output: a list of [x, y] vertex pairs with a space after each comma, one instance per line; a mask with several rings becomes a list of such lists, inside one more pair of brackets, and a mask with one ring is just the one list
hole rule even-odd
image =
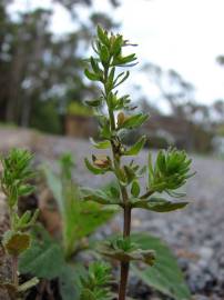
[[[0, 140], [10, 136], [10, 146], [21, 144], [13, 130], [0, 130]], [[91, 153], [90, 143], [69, 138], [42, 137], [35, 132], [30, 138], [24, 132], [24, 146], [38, 153], [38, 160], [53, 161], [64, 151], [74, 153], [75, 177], [81, 184], [98, 187], [111, 178], [90, 174], [83, 159]], [[7, 144], [4, 143], [4, 148]], [[1, 146], [0, 146], [1, 150]], [[139, 162], [146, 161], [142, 151]], [[133, 230], [149, 231], [162, 237], [179, 257], [194, 299], [224, 299], [224, 161], [193, 156], [193, 170], [197, 173], [185, 188], [191, 204], [171, 213], [150, 213], [138, 210], [133, 216]], [[116, 218], [116, 222], [121, 222]]]

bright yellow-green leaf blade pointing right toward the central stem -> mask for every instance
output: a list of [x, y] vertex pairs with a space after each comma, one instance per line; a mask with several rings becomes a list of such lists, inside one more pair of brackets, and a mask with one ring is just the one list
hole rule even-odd
[[62, 218], [63, 249], [69, 258], [80, 247], [83, 237], [112, 218], [114, 209], [103, 209], [98, 203], [83, 201], [77, 183], [69, 180], [71, 177], [65, 177], [64, 172], [60, 178], [51, 168], [44, 168], [44, 173]]

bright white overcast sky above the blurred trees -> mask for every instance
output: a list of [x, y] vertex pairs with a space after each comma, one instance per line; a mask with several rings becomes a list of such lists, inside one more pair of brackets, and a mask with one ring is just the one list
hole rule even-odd
[[[163, 69], [174, 69], [192, 82], [196, 100], [210, 104], [224, 99], [224, 68], [216, 57], [224, 54], [224, 0], [120, 0], [114, 10], [105, 0], [95, 0], [94, 11], [106, 11], [121, 22], [120, 32], [133, 42], [140, 60]], [[41, 3], [41, 4], [40, 4]], [[12, 12], [37, 6], [51, 7], [51, 0], [16, 0]], [[81, 12], [86, 18], [86, 11]], [[63, 34], [73, 30], [61, 6], [54, 6], [51, 30]], [[149, 78], [136, 76], [134, 82], [150, 93]]]

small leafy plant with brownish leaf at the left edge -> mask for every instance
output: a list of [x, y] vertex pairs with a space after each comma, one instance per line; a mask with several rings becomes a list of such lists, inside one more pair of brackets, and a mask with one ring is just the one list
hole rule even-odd
[[38, 283], [38, 279], [33, 278], [20, 284], [18, 276], [18, 258], [30, 247], [29, 229], [34, 224], [38, 217], [38, 210], [33, 216], [31, 211], [26, 211], [22, 216], [18, 211], [20, 197], [33, 192], [33, 187], [28, 183], [33, 177], [31, 159], [30, 152], [21, 149], [13, 149], [6, 158], [1, 158], [3, 170], [0, 183], [7, 198], [10, 220], [10, 229], [3, 234], [1, 244], [6, 253], [10, 256], [12, 264], [11, 282], [2, 282], [1, 287], [7, 289], [12, 299], [17, 299], [20, 293]]

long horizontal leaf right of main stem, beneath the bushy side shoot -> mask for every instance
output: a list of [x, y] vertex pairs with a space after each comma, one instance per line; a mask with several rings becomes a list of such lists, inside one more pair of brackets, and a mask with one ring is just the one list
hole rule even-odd
[[177, 209], [182, 209], [187, 206], [189, 202], [171, 202], [163, 198], [152, 197], [149, 200], [136, 200], [133, 202], [133, 208], [142, 208], [146, 210], [152, 210], [156, 212], [169, 212]]

